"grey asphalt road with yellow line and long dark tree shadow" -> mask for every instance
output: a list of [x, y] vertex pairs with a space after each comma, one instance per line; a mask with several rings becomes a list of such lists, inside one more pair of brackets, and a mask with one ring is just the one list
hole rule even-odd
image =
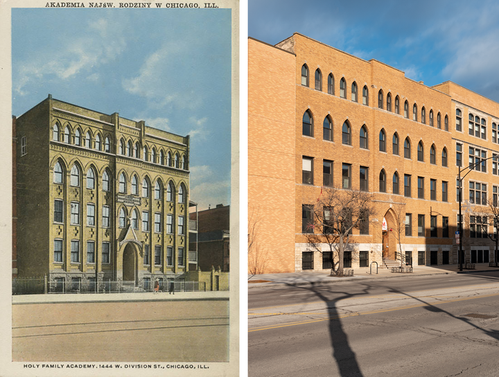
[[499, 376], [499, 273], [249, 290], [249, 376]]

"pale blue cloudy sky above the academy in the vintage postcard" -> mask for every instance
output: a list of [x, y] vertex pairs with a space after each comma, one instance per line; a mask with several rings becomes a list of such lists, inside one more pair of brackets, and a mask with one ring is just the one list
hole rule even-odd
[[53, 98], [191, 135], [191, 197], [229, 204], [231, 10], [12, 10], [12, 114]]

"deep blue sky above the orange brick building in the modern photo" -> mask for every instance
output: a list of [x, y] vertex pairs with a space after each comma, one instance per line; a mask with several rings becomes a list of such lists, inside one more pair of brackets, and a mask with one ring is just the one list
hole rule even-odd
[[451, 80], [499, 102], [499, 1], [248, 1], [248, 35], [301, 33], [413, 80]]

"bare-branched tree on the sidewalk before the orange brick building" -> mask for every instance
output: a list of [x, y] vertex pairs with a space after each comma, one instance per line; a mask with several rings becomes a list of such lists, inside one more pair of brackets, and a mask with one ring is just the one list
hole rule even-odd
[[362, 233], [367, 228], [369, 232], [369, 217], [375, 213], [373, 199], [373, 194], [364, 191], [322, 187], [317, 202], [302, 208], [302, 231], [308, 246], [321, 254], [326, 247], [331, 255], [337, 255], [338, 276], [343, 274], [344, 249], [350, 242], [352, 229], [360, 229]]

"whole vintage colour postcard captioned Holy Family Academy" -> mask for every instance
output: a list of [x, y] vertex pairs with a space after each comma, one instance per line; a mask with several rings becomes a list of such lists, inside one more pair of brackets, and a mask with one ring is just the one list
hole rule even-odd
[[239, 6], [0, 5], [1, 376], [239, 374]]

